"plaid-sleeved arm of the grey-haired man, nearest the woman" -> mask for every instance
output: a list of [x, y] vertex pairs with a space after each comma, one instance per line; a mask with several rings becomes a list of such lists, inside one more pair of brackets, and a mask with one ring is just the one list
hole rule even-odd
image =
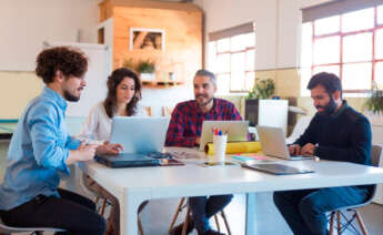
[[172, 117], [169, 123], [167, 133], [167, 146], [183, 146], [192, 147], [195, 145], [196, 136], [184, 136], [184, 115], [177, 105], [172, 112]]

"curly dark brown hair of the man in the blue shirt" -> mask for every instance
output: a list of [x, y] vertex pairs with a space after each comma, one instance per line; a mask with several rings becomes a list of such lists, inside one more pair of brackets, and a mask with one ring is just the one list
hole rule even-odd
[[82, 78], [88, 70], [88, 58], [79, 49], [57, 47], [46, 49], [37, 58], [36, 74], [46, 84], [53, 82], [57, 71], [65, 76]]

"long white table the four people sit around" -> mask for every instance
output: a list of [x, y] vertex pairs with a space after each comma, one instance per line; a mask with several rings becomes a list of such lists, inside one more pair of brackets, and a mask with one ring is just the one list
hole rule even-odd
[[138, 207], [147, 200], [248, 194], [246, 234], [255, 234], [255, 193], [284, 190], [383, 183], [383, 168], [329, 161], [289, 161], [315, 173], [276, 176], [241, 166], [203, 167], [195, 164], [167, 167], [108, 168], [89, 162], [84, 171], [120, 202], [121, 234], [137, 235]]

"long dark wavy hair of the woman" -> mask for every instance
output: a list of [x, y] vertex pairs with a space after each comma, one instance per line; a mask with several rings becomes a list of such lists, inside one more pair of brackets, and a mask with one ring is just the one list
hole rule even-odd
[[127, 104], [128, 116], [134, 115], [137, 113], [137, 103], [141, 100], [141, 81], [139, 76], [131, 70], [127, 68], [117, 69], [108, 78], [108, 95], [103, 102], [107, 114], [112, 119], [117, 112], [117, 86], [122, 82], [124, 78], [131, 78], [134, 80], [134, 96]]

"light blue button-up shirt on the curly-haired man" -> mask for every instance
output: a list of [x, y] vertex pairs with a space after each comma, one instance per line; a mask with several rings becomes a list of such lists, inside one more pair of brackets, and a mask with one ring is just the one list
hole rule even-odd
[[80, 144], [68, 135], [65, 109], [65, 100], [49, 88], [27, 106], [9, 146], [0, 210], [14, 208], [40, 194], [59, 197], [60, 178], [70, 174], [69, 151]]

